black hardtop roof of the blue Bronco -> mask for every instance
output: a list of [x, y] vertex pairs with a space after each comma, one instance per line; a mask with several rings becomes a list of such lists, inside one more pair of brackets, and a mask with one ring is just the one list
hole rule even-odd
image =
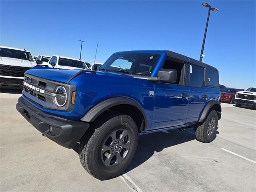
[[[168, 51], [168, 50], [164, 50], [166, 53], [167, 53], [167, 56], [170, 57], [170, 58], [174, 58], [174, 59], [178, 59], [178, 60], [182, 60], [184, 62], [188, 62], [188, 63], [191, 63], [191, 64], [195, 64], [195, 65], [198, 65], [198, 66], [202, 66], [202, 67], [205, 67], [207, 66], [208, 68], [212, 68], [212, 69], [215, 69], [217, 70], [215, 67], [213, 66], [210, 66], [206, 63], [203, 63], [203, 62], [200, 62], [198, 60], [195, 60], [193, 58], [190, 58], [188, 56], [185, 56], [185, 55], [182, 55], [182, 54], [179, 54], [179, 53], [176, 53], [176, 52], [172, 52], [172, 51]], [[217, 70], [218, 71], [218, 70]]]

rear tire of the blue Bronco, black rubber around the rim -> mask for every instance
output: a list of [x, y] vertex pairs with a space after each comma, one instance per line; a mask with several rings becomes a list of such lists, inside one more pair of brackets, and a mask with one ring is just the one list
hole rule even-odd
[[[207, 131], [208, 131], [208, 126], [211, 121], [211, 119], [215, 119], [215, 127], [214, 130], [212, 131], [212, 134], [208, 136]], [[214, 140], [216, 137], [216, 130], [218, 128], [218, 115], [215, 110], [210, 111], [204, 122], [196, 127], [195, 135], [196, 135], [196, 140], [203, 142], [203, 143], [210, 143]]]

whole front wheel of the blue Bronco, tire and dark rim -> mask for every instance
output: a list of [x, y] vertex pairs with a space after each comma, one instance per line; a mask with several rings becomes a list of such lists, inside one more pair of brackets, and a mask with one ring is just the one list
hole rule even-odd
[[80, 162], [100, 180], [118, 176], [132, 161], [138, 145], [134, 120], [120, 113], [108, 113], [98, 119], [91, 133], [80, 143]]

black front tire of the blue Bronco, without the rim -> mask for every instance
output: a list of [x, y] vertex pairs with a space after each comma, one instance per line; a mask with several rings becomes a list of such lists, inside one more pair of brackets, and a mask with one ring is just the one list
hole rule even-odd
[[[131, 138], [130, 150], [120, 164], [108, 167], [102, 162], [101, 148], [108, 134], [122, 127]], [[138, 146], [138, 129], [134, 120], [119, 112], [102, 114], [90, 125], [90, 130], [80, 142], [79, 158], [84, 169], [99, 180], [108, 180], [118, 176], [132, 161]]]

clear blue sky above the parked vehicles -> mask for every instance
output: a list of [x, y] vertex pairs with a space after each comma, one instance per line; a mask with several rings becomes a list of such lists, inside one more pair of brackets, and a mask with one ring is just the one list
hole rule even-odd
[[[208, 14], [201, 1], [3, 1], [0, 44], [33, 55], [58, 54], [104, 62], [124, 50], [172, 50], [199, 59]], [[220, 84], [256, 86], [255, 1], [207, 1], [211, 12], [203, 62]]]

